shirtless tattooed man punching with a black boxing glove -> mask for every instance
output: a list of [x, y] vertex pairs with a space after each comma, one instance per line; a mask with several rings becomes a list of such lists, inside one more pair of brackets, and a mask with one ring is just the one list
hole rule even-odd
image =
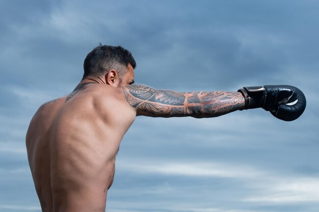
[[133, 84], [135, 67], [128, 50], [100, 45], [87, 55], [73, 92], [34, 115], [26, 148], [42, 211], [104, 211], [121, 139], [137, 115], [202, 118], [263, 107], [292, 120], [305, 108], [292, 86], [180, 93]]

